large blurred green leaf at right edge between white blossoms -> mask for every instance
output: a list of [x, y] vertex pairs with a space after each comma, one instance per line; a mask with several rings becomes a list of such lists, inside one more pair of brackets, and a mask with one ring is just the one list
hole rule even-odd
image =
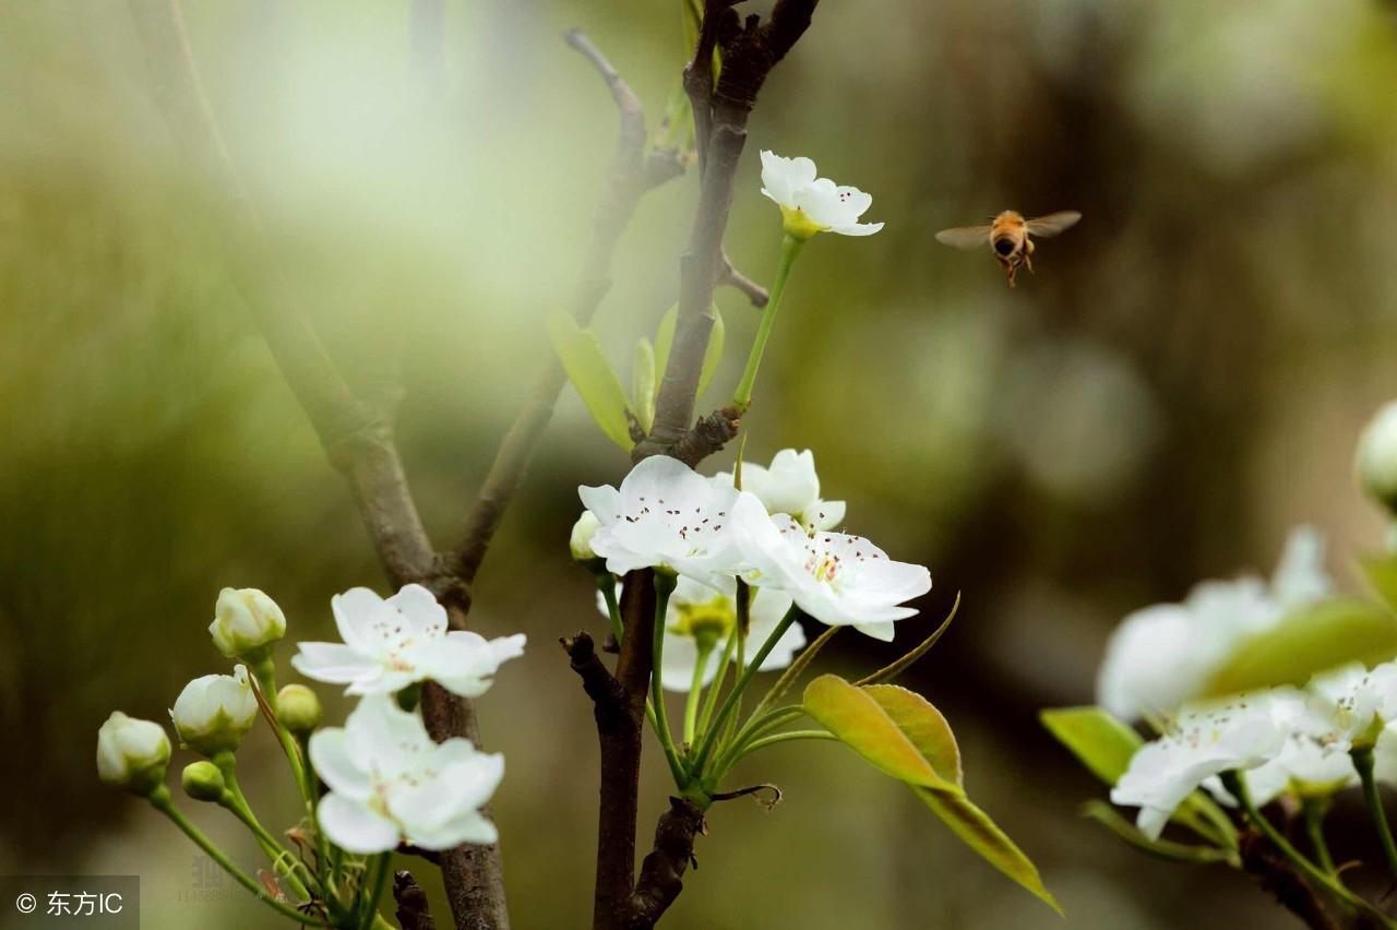
[[1394, 655], [1397, 616], [1365, 600], [1322, 600], [1245, 640], [1214, 672], [1204, 695], [1305, 684], [1345, 662], [1376, 665]]

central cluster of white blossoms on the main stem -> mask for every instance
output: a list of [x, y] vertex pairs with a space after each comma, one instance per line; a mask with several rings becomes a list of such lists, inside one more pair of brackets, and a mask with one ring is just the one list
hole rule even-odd
[[[733, 589], [754, 588], [749, 638], [760, 642], [795, 606], [828, 626], [852, 626], [879, 640], [916, 613], [905, 606], [932, 586], [922, 566], [894, 561], [861, 536], [835, 532], [844, 501], [820, 499], [814, 457], [782, 450], [770, 468], [743, 465], [733, 476], [704, 478], [657, 455], [631, 469], [620, 487], [580, 487], [587, 512], [573, 532], [573, 554], [624, 575], [658, 568], [679, 577], [671, 596], [661, 677], [687, 691], [696, 665], [717, 662], [715, 644], [733, 628]], [[605, 603], [602, 603], [605, 612]], [[805, 645], [792, 626], [766, 656], [780, 669]], [[715, 665], [698, 679], [711, 680]]]

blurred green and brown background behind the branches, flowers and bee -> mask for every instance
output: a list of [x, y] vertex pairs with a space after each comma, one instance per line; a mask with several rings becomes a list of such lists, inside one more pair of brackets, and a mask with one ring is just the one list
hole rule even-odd
[[[440, 540], [548, 360], [542, 320], [581, 271], [615, 138], [560, 34], [587, 29], [654, 120], [683, 63], [679, 6], [450, 0], [437, 75], [412, 63], [405, 1], [186, 3], [298, 297], [348, 371], [401, 359], [404, 457]], [[260, 586], [293, 638], [326, 638], [330, 596], [381, 574], [232, 285], [232, 216], [154, 106], [126, 4], [0, 10], [0, 873], [138, 871], [145, 926], [254, 926], [168, 822], [96, 781], [95, 730], [113, 708], [162, 719], [225, 669], [205, 633], [221, 586]], [[887, 228], [806, 249], [749, 455], [813, 448], [849, 525], [930, 567], [898, 645], [963, 592], [912, 684], [1067, 926], [1292, 926], [1243, 876], [1081, 821], [1099, 789], [1035, 712], [1090, 701], [1125, 613], [1268, 570], [1295, 522], [1329, 533], [1356, 586], [1382, 522], [1352, 447], [1397, 395], [1394, 82], [1377, 0], [826, 0], [752, 120], [728, 236], [747, 274], [768, 279], [780, 242], [759, 148], [872, 191]], [[652, 193], [622, 243], [595, 328], [623, 376], [675, 299], [693, 201], [692, 177]], [[1013, 292], [988, 256], [932, 239], [1003, 208], [1085, 215]], [[712, 404], [757, 320], [719, 303]], [[566, 538], [576, 486], [624, 469], [569, 391], [479, 581], [476, 628], [532, 644], [479, 705], [509, 758], [496, 813], [522, 929], [587, 922], [595, 736], [550, 644], [602, 628]], [[834, 669], [894, 654], [835, 644]], [[265, 730], [242, 768], [263, 818], [289, 820]], [[745, 774], [787, 800], [712, 811], [665, 926], [1062, 926], [838, 746]], [[194, 817], [251, 862], [218, 813]], [[1340, 810], [1341, 852], [1363, 855], [1359, 822]]]

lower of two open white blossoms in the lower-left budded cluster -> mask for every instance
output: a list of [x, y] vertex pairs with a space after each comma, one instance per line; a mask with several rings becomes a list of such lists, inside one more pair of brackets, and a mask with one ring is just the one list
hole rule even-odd
[[450, 849], [499, 838], [481, 807], [504, 776], [504, 757], [462, 737], [436, 743], [388, 695], [365, 697], [344, 728], [312, 736], [310, 761], [330, 786], [320, 825], [341, 849], [370, 855], [401, 841]]

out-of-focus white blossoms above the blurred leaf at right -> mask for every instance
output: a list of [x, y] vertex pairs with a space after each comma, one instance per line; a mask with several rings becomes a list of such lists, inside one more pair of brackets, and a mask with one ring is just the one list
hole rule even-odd
[[1241, 640], [1274, 627], [1330, 589], [1324, 539], [1299, 526], [1270, 584], [1255, 575], [1206, 581], [1183, 603], [1155, 605], [1126, 617], [1106, 642], [1097, 702], [1127, 721], [1168, 714], [1201, 693]]

